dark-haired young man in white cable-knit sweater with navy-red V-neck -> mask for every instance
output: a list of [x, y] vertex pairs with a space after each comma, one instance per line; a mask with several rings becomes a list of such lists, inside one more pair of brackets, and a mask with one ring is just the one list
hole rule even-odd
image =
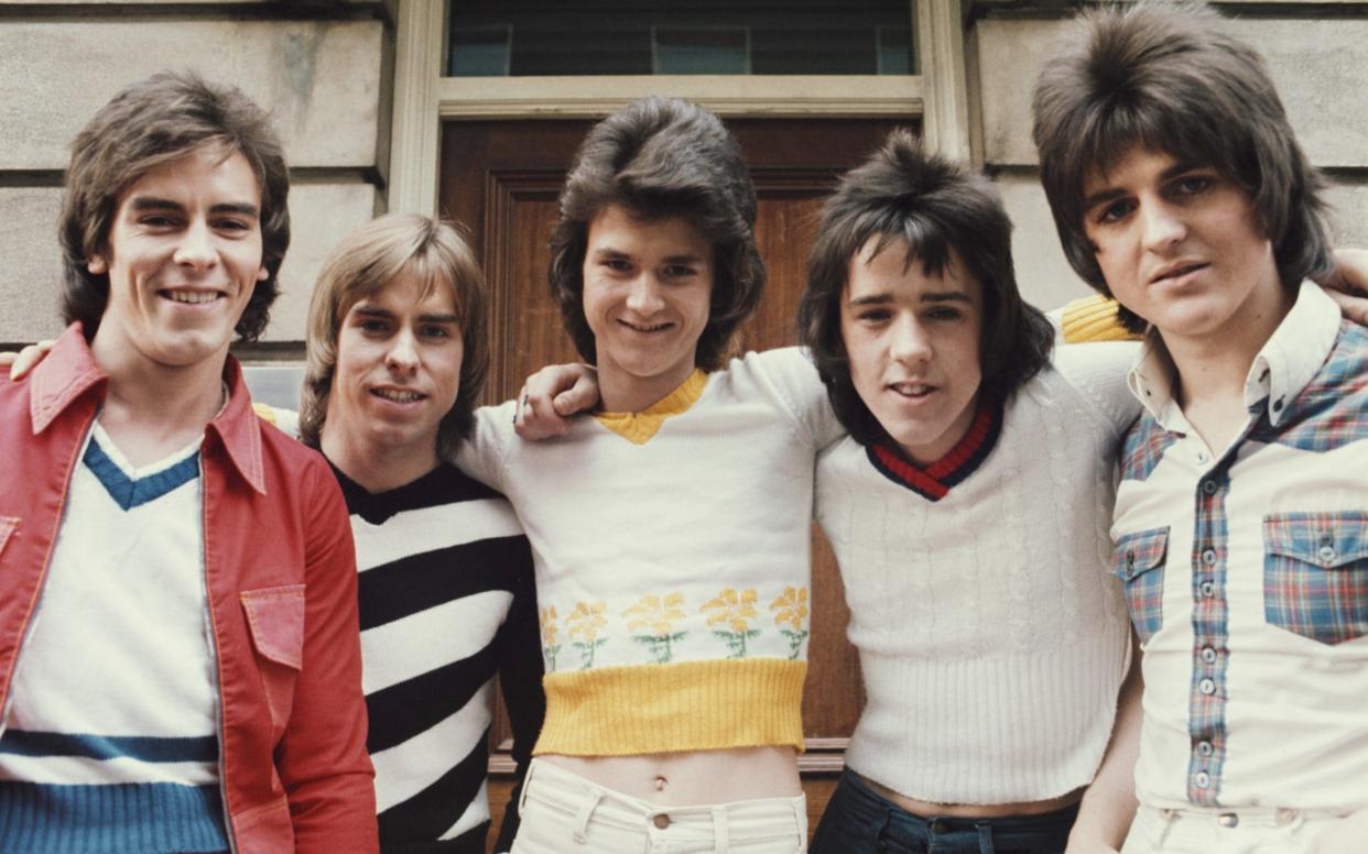
[[1052, 355], [997, 194], [907, 133], [826, 201], [799, 328], [850, 430], [817, 516], [866, 690], [814, 854], [1119, 846], [1140, 691], [1104, 555], [1134, 346]]

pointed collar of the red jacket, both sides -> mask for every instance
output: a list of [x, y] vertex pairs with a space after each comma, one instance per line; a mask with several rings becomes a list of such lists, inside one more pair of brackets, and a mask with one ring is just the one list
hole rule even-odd
[[[228, 403], [205, 428], [227, 451], [233, 467], [254, 491], [265, 495], [265, 474], [261, 463], [261, 426], [252, 411], [252, 396], [242, 381], [242, 368], [231, 355], [223, 366], [223, 381], [228, 387]], [[33, 369], [29, 391], [29, 417], [37, 436], [86, 395], [104, 398], [109, 376], [94, 363], [90, 347], [79, 322], [67, 327], [42, 362]]]

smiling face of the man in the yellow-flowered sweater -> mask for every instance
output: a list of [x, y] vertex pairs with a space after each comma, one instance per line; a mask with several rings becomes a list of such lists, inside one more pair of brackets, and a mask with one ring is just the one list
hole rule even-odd
[[713, 247], [687, 220], [642, 221], [617, 205], [594, 217], [584, 317], [605, 409], [646, 409], [688, 378], [711, 297]]

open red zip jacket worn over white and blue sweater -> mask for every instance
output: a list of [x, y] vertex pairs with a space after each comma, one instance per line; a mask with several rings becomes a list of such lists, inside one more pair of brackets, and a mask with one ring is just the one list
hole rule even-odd
[[[29, 378], [0, 376], [0, 709], [107, 378], [79, 324]], [[224, 380], [200, 458], [228, 836], [239, 854], [376, 851], [346, 507], [323, 458], [252, 413], [233, 358]]]

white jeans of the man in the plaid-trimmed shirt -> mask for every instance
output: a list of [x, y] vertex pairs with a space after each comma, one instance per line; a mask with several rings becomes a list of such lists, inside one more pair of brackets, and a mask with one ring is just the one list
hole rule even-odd
[[1192, 809], [1141, 806], [1120, 854], [1301, 854], [1330, 813], [1294, 809]]

